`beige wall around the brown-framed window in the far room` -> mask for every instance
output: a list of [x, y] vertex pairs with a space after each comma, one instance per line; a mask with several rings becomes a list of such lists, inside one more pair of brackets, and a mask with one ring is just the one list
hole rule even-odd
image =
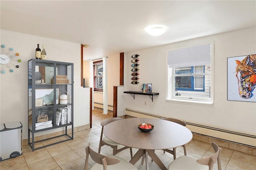
[[[120, 54], [108, 56], [107, 60], [107, 71], [108, 71], [108, 105], [113, 105], [113, 88], [119, 85], [120, 75]], [[86, 87], [89, 87], [90, 70], [89, 61], [84, 61], [84, 78], [86, 79]], [[94, 92], [94, 102], [103, 104], [103, 93]]]

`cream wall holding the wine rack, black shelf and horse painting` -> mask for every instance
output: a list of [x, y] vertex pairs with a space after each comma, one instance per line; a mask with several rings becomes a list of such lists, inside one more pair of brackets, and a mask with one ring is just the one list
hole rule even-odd
[[[166, 100], [166, 51], [205, 41], [214, 41], [214, 105]], [[140, 84], [132, 85], [131, 55], [136, 53], [140, 55]], [[159, 93], [153, 102], [148, 96], [135, 95], [133, 99], [123, 94], [125, 107], [256, 135], [256, 103], [227, 100], [227, 58], [250, 54], [256, 54], [255, 27], [125, 53], [124, 91], [141, 91], [142, 83], [152, 83], [152, 91]], [[256, 95], [255, 90], [253, 93]]]

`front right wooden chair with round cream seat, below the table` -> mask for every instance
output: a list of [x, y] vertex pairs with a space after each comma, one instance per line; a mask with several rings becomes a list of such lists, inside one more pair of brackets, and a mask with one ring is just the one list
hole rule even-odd
[[212, 147], [214, 148], [215, 154], [198, 160], [190, 156], [180, 156], [170, 163], [168, 170], [212, 170], [216, 161], [218, 161], [218, 170], [221, 170], [221, 148], [215, 143], [212, 143]]

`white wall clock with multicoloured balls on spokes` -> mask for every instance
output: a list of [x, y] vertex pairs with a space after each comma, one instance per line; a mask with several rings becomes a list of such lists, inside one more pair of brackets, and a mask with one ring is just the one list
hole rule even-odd
[[[4, 53], [4, 47], [5, 45], [1, 45], [2, 51]], [[8, 69], [11, 73], [14, 72], [13, 68], [19, 68], [19, 65], [16, 65], [14, 63], [12, 63], [11, 61], [18, 61], [21, 62], [21, 59], [14, 59], [16, 56], [19, 56], [19, 53], [15, 53], [15, 55], [10, 55], [10, 57], [8, 56], [8, 54], [13, 51], [13, 48], [9, 48], [9, 52], [7, 54], [0, 54], [0, 64], [1, 64], [1, 73], [4, 74], [6, 72], [6, 70]], [[15, 66], [15, 67], [14, 67]], [[7, 69], [6, 69], [7, 67]]]

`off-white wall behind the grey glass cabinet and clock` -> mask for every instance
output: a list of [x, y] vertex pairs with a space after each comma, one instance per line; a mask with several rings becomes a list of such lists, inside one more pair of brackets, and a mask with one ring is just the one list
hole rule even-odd
[[[28, 138], [28, 60], [35, 58], [37, 43], [45, 45], [47, 59], [52, 61], [64, 61], [74, 63], [74, 127], [87, 125], [90, 121], [90, 90], [80, 87], [80, 44], [54, 40], [39, 36], [32, 36], [18, 32], [0, 30], [1, 44], [6, 47], [1, 54], [8, 53], [13, 47], [13, 53], [19, 53], [21, 63], [11, 61], [20, 65], [13, 73], [8, 70], [0, 74], [0, 123], [20, 121], [23, 125], [22, 138]], [[13, 55], [12, 52], [9, 55]], [[1, 69], [3, 65], [0, 65]], [[8, 67], [5, 68], [8, 69]], [[63, 130], [47, 130], [36, 133], [36, 136], [49, 134]]]

